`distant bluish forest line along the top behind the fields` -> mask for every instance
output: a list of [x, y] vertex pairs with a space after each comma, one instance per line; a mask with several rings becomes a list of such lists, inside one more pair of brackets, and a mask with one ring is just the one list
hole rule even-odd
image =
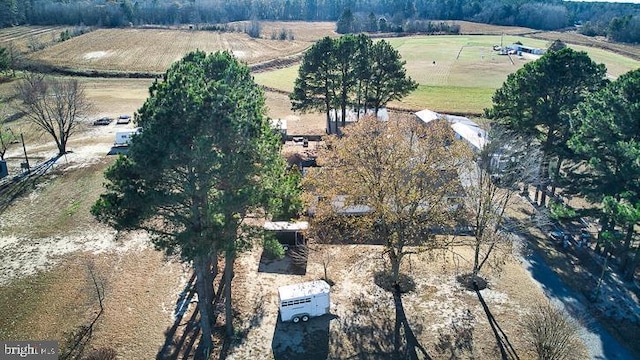
[[[640, 40], [636, 4], [557, 0], [0, 0], [0, 27], [30, 25], [176, 25], [242, 20], [337, 21], [345, 11], [359, 28], [412, 31], [415, 20], [468, 20], [487, 24], [561, 29], [581, 24], [587, 35]], [[371, 31], [371, 30], [367, 30]]]

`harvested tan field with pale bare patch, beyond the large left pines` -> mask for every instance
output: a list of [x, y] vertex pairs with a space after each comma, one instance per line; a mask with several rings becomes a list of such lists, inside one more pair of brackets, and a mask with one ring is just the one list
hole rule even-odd
[[[242, 27], [244, 24], [237, 24]], [[31, 55], [33, 60], [77, 70], [164, 72], [193, 50], [231, 51], [257, 64], [304, 51], [315, 40], [335, 36], [334, 23], [265, 23], [262, 38], [242, 32], [180, 29], [99, 29]], [[271, 40], [274, 31], [291, 31], [294, 40]]]

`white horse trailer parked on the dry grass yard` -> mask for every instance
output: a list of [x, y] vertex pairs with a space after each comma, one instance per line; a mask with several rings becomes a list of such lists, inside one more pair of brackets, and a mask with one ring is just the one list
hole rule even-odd
[[294, 323], [328, 314], [331, 301], [326, 281], [316, 280], [278, 288], [280, 319]]

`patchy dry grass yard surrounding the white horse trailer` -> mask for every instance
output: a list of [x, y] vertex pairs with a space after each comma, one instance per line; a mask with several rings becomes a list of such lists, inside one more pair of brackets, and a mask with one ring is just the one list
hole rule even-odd
[[[264, 359], [305, 355], [324, 358], [322, 353], [305, 354], [301, 350], [323, 348], [318, 344], [322, 343], [323, 336], [328, 337], [325, 345], [329, 358], [371, 355], [377, 346], [389, 345], [395, 318], [392, 297], [373, 283], [373, 273], [384, 267], [381, 252], [377, 246], [317, 245], [311, 251], [307, 272], [303, 276], [257, 272], [259, 249], [244, 254], [237, 264], [234, 292], [235, 306], [242, 319], [239, 330], [247, 335], [241, 345], [233, 348], [232, 357], [244, 359], [261, 354]], [[470, 255], [466, 249], [456, 249], [456, 252], [467, 259]], [[327, 253], [332, 254], [329, 277], [336, 282], [331, 288], [331, 314], [335, 318], [329, 322], [329, 333], [321, 333], [316, 338], [307, 334], [316, 333], [312, 327], [300, 326], [301, 329], [294, 327], [286, 334], [290, 339], [283, 338], [285, 334], [281, 329], [286, 325], [278, 323], [277, 287], [321, 278], [322, 257]], [[410, 272], [416, 281], [416, 291], [403, 296], [409, 322], [429, 354], [434, 359], [444, 359], [448, 356], [437, 351], [438, 335], [449, 333], [452, 320], [468, 310], [474, 318], [476, 358], [499, 358], [495, 338], [477, 296], [460, 288], [455, 281], [457, 274], [468, 271], [468, 266], [462, 265], [458, 257], [456, 259], [453, 261], [450, 253], [422, 254], [405, 262], [404, 271]], [[483, 291], [490, 310], [520, 358], [531, 358], [530, 349], [520, 336], [519, 318], [530, 304], [544, 298], [540, 287], [517, 262], [507, 262], [502, 272], [490, 275], [490, 280], [490, 289]], [[318, 322], [322, 321], [327, 320]], [[285, 350], [286, 346], [290, 349]], [[265, 351], [269, 348], [274, 348], [276, 354]]]

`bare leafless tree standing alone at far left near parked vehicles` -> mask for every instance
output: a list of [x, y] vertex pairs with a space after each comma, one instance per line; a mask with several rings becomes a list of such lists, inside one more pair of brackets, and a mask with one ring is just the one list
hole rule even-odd
[[91, 108], [80, 82], [28, 73], [16, 92], [27, 120], [53, 137], [58, 155], [67, 153], [79, 119]]

